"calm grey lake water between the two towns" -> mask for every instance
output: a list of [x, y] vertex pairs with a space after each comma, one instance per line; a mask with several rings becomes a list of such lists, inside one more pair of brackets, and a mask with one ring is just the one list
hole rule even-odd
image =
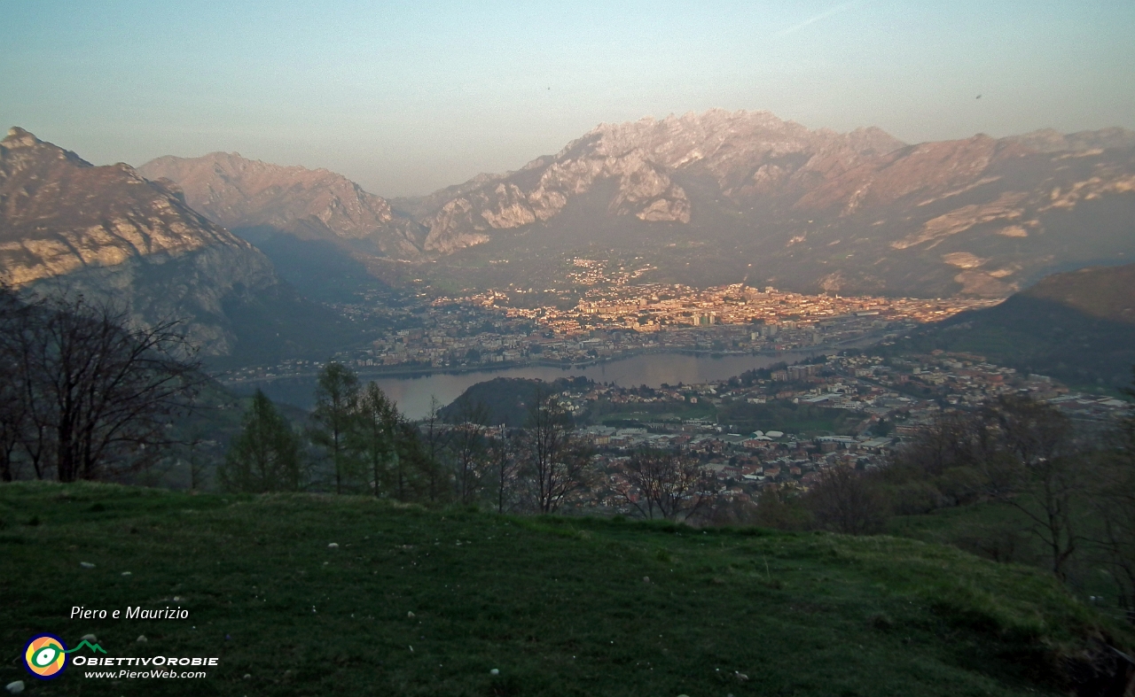
[[[431, 397], [447, 405], [461, 396], [470, 385], [494, 377], [538, 377], [544, 381], [557, 377], [582, 375], [596, 382], [609, 382], [623, 386], [648, 385], [657, 388], [669, 384], [697, 384], [712, 380], [725, 380], [753, 368], [766, 368], [775, 363], [794, 363], [814, 356], [822, 350], [784, 351], [777, 355], [745, 356], [691, 356], [687, 354], [641, 354], [609, 360], [596, 365], [560, 368], [549, 366], [526, 366], [501, 371], [473, 371], [470, 373], [431, 373], [429, 375], [360, 375], [361, 380], [373, 380], [398, 408], [410, 418], [421, 418], [429, 411]], [[257, 388], [276, 401], [284, 401], [304, 409], [314, 405], [313, 377], [276, 377], [249, 381], [233, 388], [242, 393]]]

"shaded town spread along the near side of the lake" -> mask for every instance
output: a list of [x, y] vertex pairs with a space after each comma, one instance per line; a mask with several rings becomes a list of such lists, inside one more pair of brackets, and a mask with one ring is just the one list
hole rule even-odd
[[595, 503], [630, 512], [616, 494], [621, 464], [642, 448], [696, 459], [724, 501], [760, 492], [805, 492], [831, 467], [869, 470], [891, 449], [918, 435], [943, 413], [974, 408], [1002, 394], [1045, 401], [1086, 430], [1117, 423], [1128, 403], [1071, 392], [1044, 375], [1020, 375], [981, 356], [826, 356], [817, 362], [754, 371], [726, 381], [661, 389], [595, 383], [570, 386], [561, 403], [577, 434], [596, 449], [607, 486]]

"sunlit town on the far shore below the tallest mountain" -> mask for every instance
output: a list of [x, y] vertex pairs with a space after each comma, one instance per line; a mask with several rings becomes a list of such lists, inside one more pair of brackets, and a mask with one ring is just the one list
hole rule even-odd
[[[802, 295], [743, 283], [704, 290], [632, 284], [634, 273], [608, 278], [597, 271], [598, 262], [574, 264], [580, 271], [569, 275], [587, 289], [571, 307], [524, 303], [527, 295], [546, 300], [558, 292], [555, 288], [412, 297], [396, 306], [340, 305], [352, 320], [378, 322], [385, 329], [368, 346], [340, 351], [334, 359], [368, 373], [406, 373], [586, 365], [648, 351], [728, 355], [838, 348], [1000, 301]], [[233, 369], [222, 380], [316, 369], [318, 364], [293, 358]]]

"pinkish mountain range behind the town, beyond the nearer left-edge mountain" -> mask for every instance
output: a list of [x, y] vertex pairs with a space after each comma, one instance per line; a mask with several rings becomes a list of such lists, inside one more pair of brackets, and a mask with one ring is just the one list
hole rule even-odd
[[[393, 282], [405, 266], [390, 262], [431, 262], [411, 275], [442, 289], [555, 284], [573, 255], [606, 255], [695, 286], [1003, 297], [1135, 255], [1135, 133], [1121, 128], [908, 145], [711, 110], [604, 124], [516, 171], [390, 201], [236, 154], [140, 171], [262, 248], [318, 239]], [[278, 256], [305, 282], [312, 255]]]

